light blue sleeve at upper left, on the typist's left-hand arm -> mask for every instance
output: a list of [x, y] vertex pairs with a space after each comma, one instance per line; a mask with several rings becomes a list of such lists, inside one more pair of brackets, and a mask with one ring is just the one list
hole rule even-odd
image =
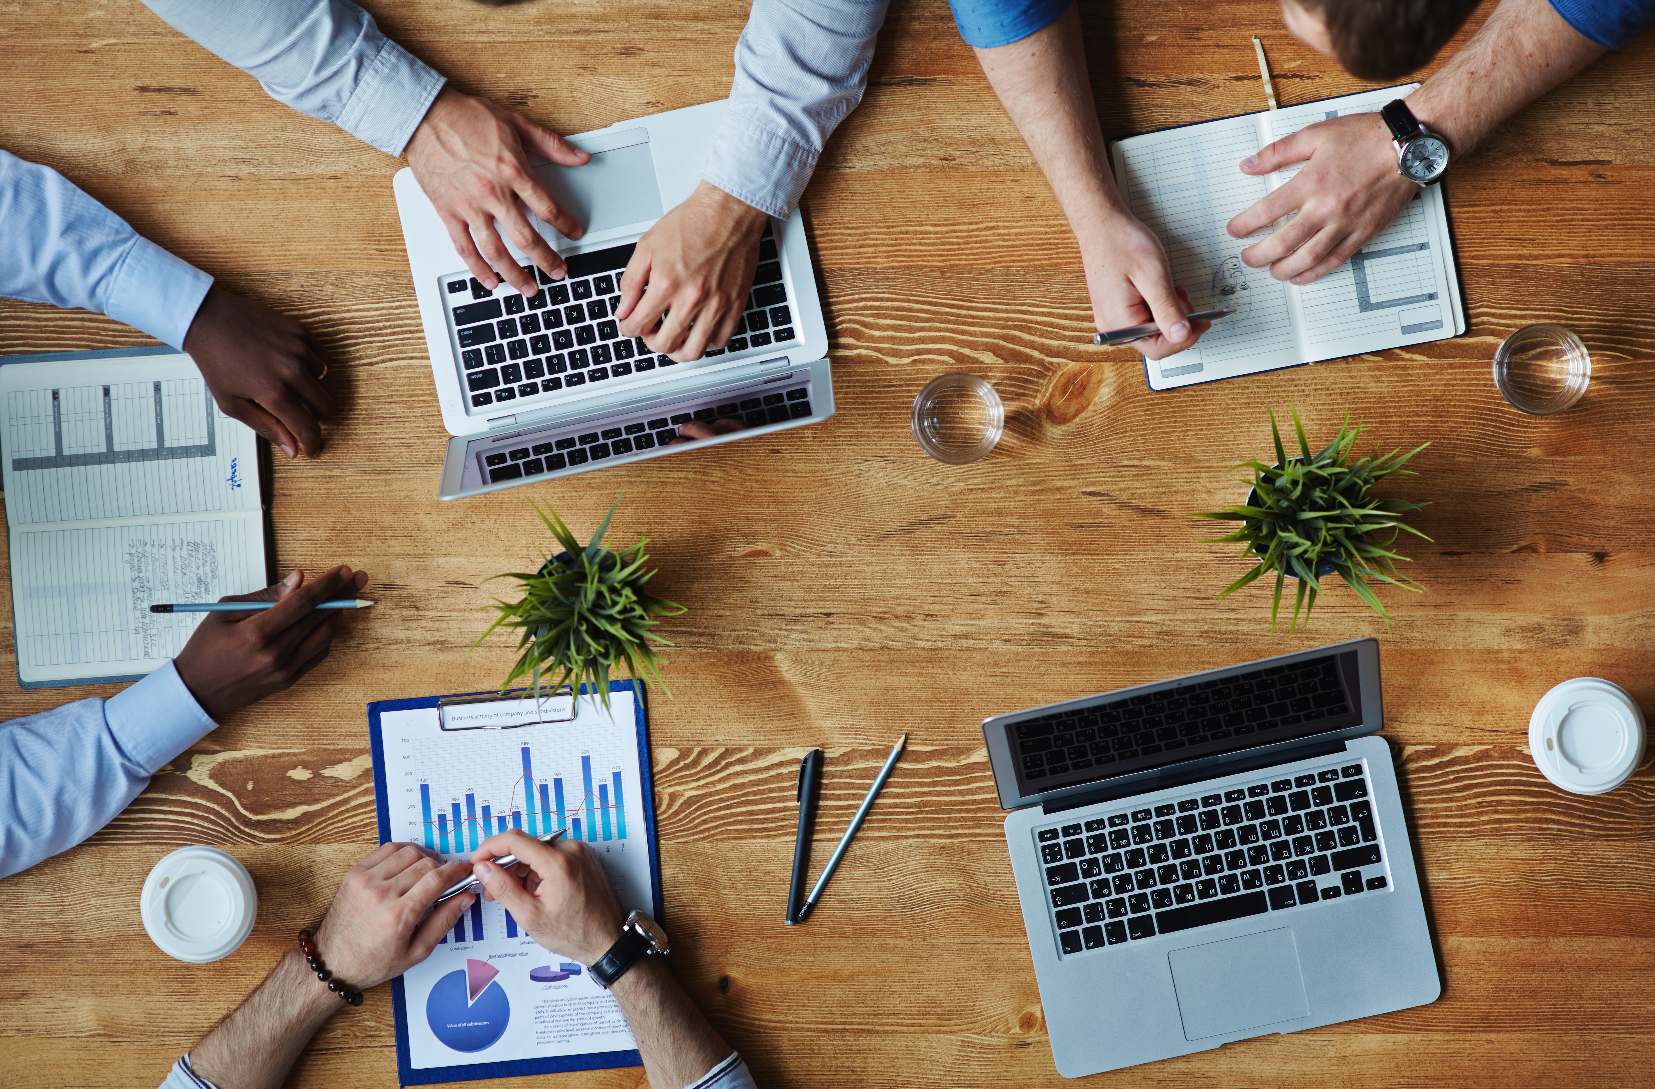
[[401, 156], [444, 78], [349, 0], [144, 0], [270, 98]]

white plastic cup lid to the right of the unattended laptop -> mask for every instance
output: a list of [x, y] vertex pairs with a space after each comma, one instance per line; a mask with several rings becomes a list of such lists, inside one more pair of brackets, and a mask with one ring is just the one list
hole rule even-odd
[[1541, 775], [1572, 794], [1602, 794], [1643, 760], [1643, 712], [1597, 677], [1566, 680], [1536, 703], [1529, 751]]

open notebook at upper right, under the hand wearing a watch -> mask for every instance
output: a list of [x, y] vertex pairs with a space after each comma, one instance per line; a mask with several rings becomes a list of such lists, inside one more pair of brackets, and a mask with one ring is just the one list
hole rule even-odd
[[1298, 174], [1241, 174], [1238, 164], [1307, 124], [1379, 113], [1418, 84], [1380, 88], [1278, 111], [1145, 132], [1112, 144], [1115, 177], [1132, 213], [1154, 230], [1172, 260], [1172, 278], [1195, 309], [1235, 306], [1195, 348], [1145, 361], [1150, 389], [1213, 382], [1294, 367], [1317, 359], [1442, 341], [1465, 333], [1465, 306], [1448, 240], [1442, 185], [1428, 185], [1355, 257], [1302, 288], [1241, 263], [1241, 250], [1284, 225], [1248, 238], [1225, 230]]

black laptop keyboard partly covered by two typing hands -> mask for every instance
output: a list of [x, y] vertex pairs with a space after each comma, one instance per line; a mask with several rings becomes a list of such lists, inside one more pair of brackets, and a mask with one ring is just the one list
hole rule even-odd
[[[465, 273], [444, 276], [442, 293], [472, 407], [510, 402], [516, 410], [525, 407], [523, 401], [564, 389], [634, 381], [677, 366], [677, 359], [650, 353], [644, 338], [624, 338], [617, 328], [621, 271], [634, 248], [636, 243], [627, 243], [576, 253], [568, 258], [564, 280], [536, 268], [541, 291], [535, 298], [523, 298], [506, 283], [490, 291]], [[748, 309], [730, 343], [703, 359], [791, 344], [798, 339], [794, 328], [775, 232], [765, 223]]]

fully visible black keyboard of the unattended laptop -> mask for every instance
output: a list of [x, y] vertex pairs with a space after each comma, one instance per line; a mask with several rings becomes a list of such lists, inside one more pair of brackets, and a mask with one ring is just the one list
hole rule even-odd
[[1387, 887], [1362, 765], [1034, 831], [1064, 955]]

